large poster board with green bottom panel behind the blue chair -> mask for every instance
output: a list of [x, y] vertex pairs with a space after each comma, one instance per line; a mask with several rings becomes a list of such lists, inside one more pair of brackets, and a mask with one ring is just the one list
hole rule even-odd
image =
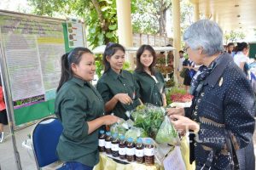
[[66, 20], [0, 10], [0, 39], [15, 126], [54, 114]]

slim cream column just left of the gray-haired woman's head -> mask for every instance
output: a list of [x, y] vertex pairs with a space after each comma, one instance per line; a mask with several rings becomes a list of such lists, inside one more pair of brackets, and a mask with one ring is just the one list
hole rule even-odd
[[178, 51], [181, 49], [181, 30], [180, 30], [180, 0], [172, 0], [172, 26], [173, 26], [173, 47], [176, 50], [174, 55], [174, 81], [177, 84], [177, 65], [179, 62]]

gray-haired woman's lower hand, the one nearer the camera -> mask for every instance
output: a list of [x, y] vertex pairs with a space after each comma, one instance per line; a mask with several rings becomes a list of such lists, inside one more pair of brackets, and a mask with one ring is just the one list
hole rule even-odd
[[200, 126], [197, 122], [192, 121], [188, 117], [180, 115], [170, 116], [173, 126], [177, 129], [178, 132], [186, 132], [188, 130], [193, 130], [197, 133], [200, 129]]

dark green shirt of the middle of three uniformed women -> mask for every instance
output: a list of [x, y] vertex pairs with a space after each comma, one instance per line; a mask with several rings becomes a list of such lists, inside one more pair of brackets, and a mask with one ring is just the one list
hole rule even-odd
[[115, 94], [128, 94], [133, 99], [133, 103], [130, 105], [118, 102], [113, 111], [109, 111], [107, 114], [113, 112], [115, 116], [127, 120], [128, 117], [125, 115], [125, 111], [134, 110], [137, 105], [140, 105], [138, 98], [139, 88], [129, 71], [121, 71], [120, 74], [117, 74], [112, 69], [109, 69], [97, 82], [96, 89], [102, 95], [105, 103], [112, 99]]

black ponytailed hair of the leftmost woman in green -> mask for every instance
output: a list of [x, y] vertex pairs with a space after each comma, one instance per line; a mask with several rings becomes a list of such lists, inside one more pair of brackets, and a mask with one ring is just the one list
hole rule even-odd
[[83, 54], [92, 54], [88, 48], [73, 48], [69, 53], [63, 54], [61, 56], [61, 80], [57, 88], [57, 92], [60, 90], [61, 86], [73, 77], [73, 71], [71, 65], [74, 63], [79, 65], [81, 56]]

